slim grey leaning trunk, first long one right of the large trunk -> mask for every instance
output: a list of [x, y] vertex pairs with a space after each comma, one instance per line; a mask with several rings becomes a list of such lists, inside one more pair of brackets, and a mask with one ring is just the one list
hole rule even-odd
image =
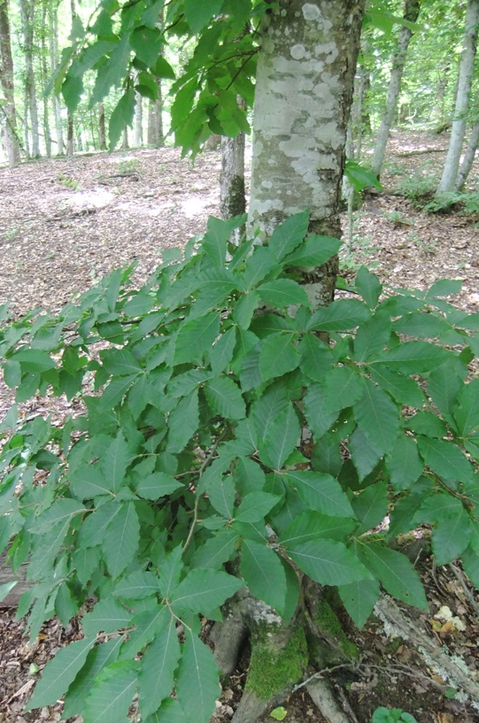
[[[404, 19], [415, 23], [418, 19], [420, 11], [420, 0], [406, 0], [404, 8]], [[390, 135], [390, 127], [398, 107], [399, 90], [401, 89], [401, 78], [403, 76], [404, 66], [406, 65], [406, 54], [409, 42], [413, 37], [413, 31], [406, 26], [402, 26], [398, 36], [398, 50], [394, 54], [392, 60], [392, 70], [390, 73], [390, 85], [388, 88], [388, 98], [386, 101], [386, 109], [382, 116], [381, 126], [377, 134], [375, 152], [373, 154], [372, 168], [376, 176], [381, 173], [384, 154], [386, 153], [386, 144]]]

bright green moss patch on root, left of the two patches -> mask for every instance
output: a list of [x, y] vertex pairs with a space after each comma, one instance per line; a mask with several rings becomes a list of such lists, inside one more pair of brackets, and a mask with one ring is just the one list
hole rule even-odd
[[253, 642], [250, 672], [246, 690], [268, 700], [291, 683], [299, 681], [308, 663], [307, 645], [303, 627], [297, 627], [289, 642], [278, 649], [274, 635], [259, 636]]

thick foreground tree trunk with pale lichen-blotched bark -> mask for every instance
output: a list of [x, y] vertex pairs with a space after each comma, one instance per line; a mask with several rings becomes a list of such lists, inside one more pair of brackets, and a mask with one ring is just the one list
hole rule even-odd
[[[363, 3], [280, 5], [267, 15], [258, 60], [248, 225], [270, 235], [308, 208], [310, 232], [338, 238]], [[336, 273], [336, 259], [305, 273], [314, 304], [332, 300]]]

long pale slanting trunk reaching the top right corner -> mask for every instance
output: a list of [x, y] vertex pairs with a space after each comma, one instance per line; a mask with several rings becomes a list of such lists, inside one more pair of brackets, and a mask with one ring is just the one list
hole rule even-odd
[[474, 75], [477, 26], [479, 23], [479, 0], [468, 0], [466, 30], [458, 75], [458, 92], [452, 121], [451, 139], [445, 159], [444, 171], [437, 194], [452, 191], [457, 181], [460, 153], [466, 133], [467, 108]]

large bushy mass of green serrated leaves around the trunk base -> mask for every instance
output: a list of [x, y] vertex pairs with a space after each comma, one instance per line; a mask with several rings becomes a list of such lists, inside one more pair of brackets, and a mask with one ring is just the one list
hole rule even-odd
[[[339, 242], [307, 236], [301, 213], [234, 247], [243, 221], [209, 219], [142, 288], [115, 271], [3, 327], [17, 404], [0, 540], [32, 583], [18, 615], [31, 638], [53, 615], [80, 614], [84, 634], [29, 710], [65, 696], [65, 718], [116, 723], [135, 700], [137, 720], [206, 723], [220, 688], [205, 619], [247, 586], [300, 620], [308, 581], [336, 588], [359, 627], [380, 588], [426, 609], [391, 544], [419, 526], [437, 565], [461, 556], [479, 585], [479, 314], [444, 298], [460, 282], [383, 288], [362, 267], [313, 309], [297, 270]], [[38, 394], [74, 412], [26, 415]]]

